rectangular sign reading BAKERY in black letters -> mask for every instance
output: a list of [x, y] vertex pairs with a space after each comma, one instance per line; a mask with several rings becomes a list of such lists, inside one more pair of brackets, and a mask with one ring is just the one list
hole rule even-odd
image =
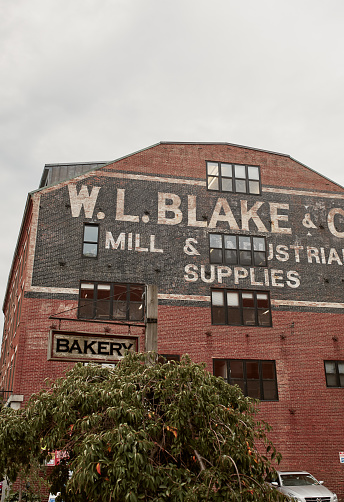
[[48, 361], [116, 363], [126, 351], [138, 351], [135, 336], [51, 330]]

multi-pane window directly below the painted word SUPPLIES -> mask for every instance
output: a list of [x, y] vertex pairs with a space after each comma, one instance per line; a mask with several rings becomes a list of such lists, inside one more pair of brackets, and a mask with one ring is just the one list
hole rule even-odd
[[230, 326], [271, 326], [269, 293], [213, 289], [212, 324]]

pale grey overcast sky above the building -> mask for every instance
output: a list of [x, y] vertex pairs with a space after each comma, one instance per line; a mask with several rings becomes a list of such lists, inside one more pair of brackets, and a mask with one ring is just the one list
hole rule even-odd
[[219, 141], [344, 185], [343, 21], [343, 0], [0, 1], [1, 303], [46, 163]]

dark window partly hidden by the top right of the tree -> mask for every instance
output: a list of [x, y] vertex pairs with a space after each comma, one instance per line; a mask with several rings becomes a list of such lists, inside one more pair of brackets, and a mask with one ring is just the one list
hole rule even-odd
[[275, 361], [214, 359], [214, 375], [231, 385], [239, 385], [245, 396], [264, 401], [277, 401]]

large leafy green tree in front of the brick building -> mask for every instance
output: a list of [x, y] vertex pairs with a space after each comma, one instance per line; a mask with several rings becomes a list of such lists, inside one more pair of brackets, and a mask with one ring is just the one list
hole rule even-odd
[[256, 403], [204, 365], [128, 354], [114, 368], [76, 365], [27, 406], [0, 413], [0, 474], [66, 458], [50, 491], [77, 501], [283, 500], [265, 484], [280, 456]]

